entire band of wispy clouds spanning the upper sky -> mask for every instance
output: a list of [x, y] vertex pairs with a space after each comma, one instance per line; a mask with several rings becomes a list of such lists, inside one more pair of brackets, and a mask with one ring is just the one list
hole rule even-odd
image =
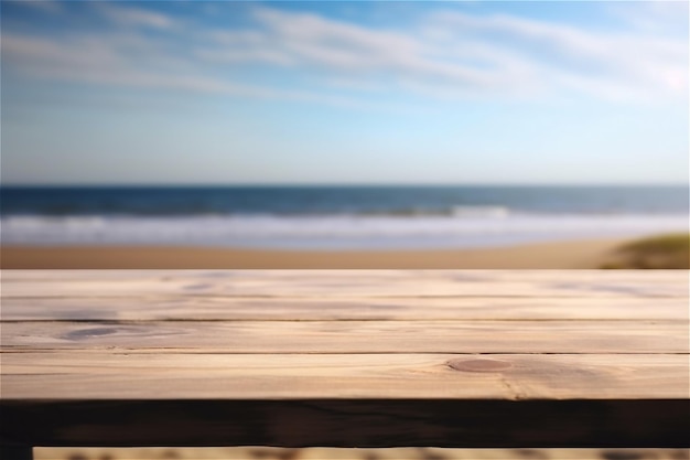
[[[436, 97], [586, 95], [626, 101], [687, 96], [688, 40], [649, 28], [607, 32], [506, 14], [438, 11], [405, 32], [255, 7], [251, 24], [206, 30], [127, 3], [97, 3], [108, 31], [3, 32], [3, 62], [40, 78], [364, 105], [338, 86]], [[161, 34], [151, 36], [147, 30]], [[228, 76], [263, 65], [309, 75], [287, 87]], [[239, 78], [239, 79], [238, 79]], [[367, 96], [363, 96], [367, 97]]]

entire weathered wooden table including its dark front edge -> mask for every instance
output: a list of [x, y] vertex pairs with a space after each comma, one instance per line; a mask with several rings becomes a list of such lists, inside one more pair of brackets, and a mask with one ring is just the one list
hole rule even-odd
[[688, 445], [687, 271], [1, 275], [4, 442]]

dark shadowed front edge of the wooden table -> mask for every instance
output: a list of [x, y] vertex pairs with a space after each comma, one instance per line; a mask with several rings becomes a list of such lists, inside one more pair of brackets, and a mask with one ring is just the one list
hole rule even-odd
[[[40, 446], [688, 446], [688, 402], [0, 402], [2, 435]], [[41, 420], [40, 424], [36, 420]]]

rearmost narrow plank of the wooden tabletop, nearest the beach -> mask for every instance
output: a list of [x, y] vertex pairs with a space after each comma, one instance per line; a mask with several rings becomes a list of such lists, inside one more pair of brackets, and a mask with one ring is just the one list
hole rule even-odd
[[78, 274], [72, 272], [74, 270], [10, 271], [3, 276], [4, 298], [118, 297], [123, 287], [130, 296], [688, 297], [687, 276], [672, 270], [653, 277], [591, 271], [580, 279], [553, 274], [525, 280], [494, 278], [488, 270], [474, 274], [461, 270], [150, 270], [140, 272], [141, 277], [122, 270], [105, 270], [105, 274], [100, 270], [79, 270]]

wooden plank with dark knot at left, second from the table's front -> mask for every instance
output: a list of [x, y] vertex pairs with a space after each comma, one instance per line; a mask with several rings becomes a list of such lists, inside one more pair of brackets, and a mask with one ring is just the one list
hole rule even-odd
[[2, 324], [7, 350], [130, 353], [688, 353], [679, 321], [166, 321]]

